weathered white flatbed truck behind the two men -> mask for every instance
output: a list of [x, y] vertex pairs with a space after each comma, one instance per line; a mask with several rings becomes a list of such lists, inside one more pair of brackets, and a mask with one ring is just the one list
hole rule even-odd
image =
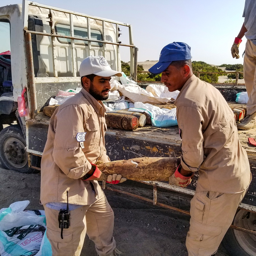
[[[129, 33], [127, 44], [119, 41], [120, 28]], [[0, 161], [7, 169], [39, 172], [49, 126], [49, 117], [40, 110], [59, 90], [81, 87], [78, 70], [85, 57], [103, 55], [111, 68], [121, 71], [119, 47], [129, 47], [130, 72], [133, 79], [137, 79], [138, 49], [133, 44], [132, 26], [23, 0], [22, 5], [0, 7], [0, 32], [0, 49], [10, 47], [3, 49], [10, 50], [10, 54], [0, 54]], [[231, 90], [245, 90], [239, 85], [216, 87], [222, 92], [228, 91], [227, 100], [233, 95]], [[19, 117], [16, 115], [17, 98], [23, 88], [26, 88], [27, 115]], [[10, 126], [3, 129], [4, 124]], [[256, 131], [251, 133], [256, 136]], [[240, 133], [239, 136], [246, 147], [246, 135]], [[177, 127], [141, 127], [135, 131], [110, 129], [106, 133], [106, 148], [111, 160], [177, 157], [181, 154], [180, 143]], [[232, 229], [224, 239], [232, 256], [256, 256], [256, 150], [247, 147], [246, 151], [253, 178]], [[192, 195], [196, 179], [188, 188], [164, 182], [147, 183], [154, 186], [153, 200], [147, 201], [181, 211], [157, 202], [157, 188]]]

